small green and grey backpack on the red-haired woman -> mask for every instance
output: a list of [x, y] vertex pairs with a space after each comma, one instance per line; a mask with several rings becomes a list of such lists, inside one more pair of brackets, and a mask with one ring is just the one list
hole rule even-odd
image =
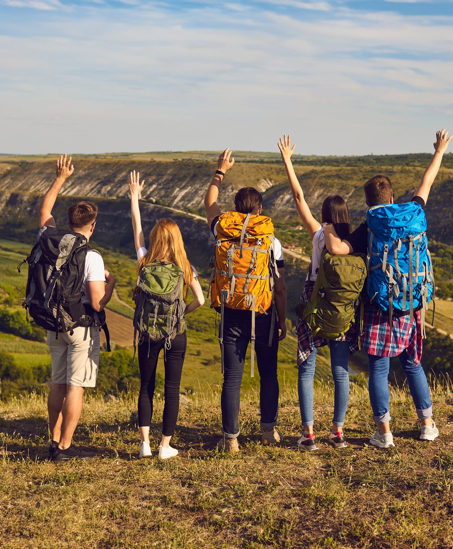
[[184, 321], [184, 272], [167, 261], [155, 261], [142, 268], [137, 280], [140, 290], [135, 301], [134, 357], [136, 337], [138, 343], [165, 339], [165, 348], [170, 349], [171, 340], [186, 330]]

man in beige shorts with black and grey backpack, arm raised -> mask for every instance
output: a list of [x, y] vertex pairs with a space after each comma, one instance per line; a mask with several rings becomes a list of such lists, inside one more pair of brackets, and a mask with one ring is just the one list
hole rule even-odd
[[72, 444], [82, 412], [85, 387], [96, 385], [99, 364], [99, 326], [110, 301], [115, 278], [104, 268], [102, 256], [88, 247], [98, 207], [81, 201], [68, 210], [67, 229], [57, 229], [52, 209], [65, 180], [74, 172], [71, 157], [57, 161], [57, 177], [38, 208], [40, 232], [29, 262], [24, 306], [33, 320], [47, 328], [52, 360], [52, 388], [48, 396], [49, 457], [54, 461], [91, 459], [94, 452]]

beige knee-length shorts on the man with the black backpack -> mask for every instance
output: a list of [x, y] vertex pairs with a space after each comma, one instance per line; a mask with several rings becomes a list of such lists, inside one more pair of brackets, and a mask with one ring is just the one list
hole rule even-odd
[[51, 352], [52, 383], [76, 387], [96, 386], [99, 366], [99, 328], [79, 326], [74, 333], [47, 331]]

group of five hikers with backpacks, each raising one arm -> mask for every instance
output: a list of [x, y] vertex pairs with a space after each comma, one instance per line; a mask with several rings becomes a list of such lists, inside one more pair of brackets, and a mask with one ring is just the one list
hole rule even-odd
[[[426, 205], [451, 136], [441, 130], [435, 153], [409, 203], [394, 204], [389, 178], [377, 175], [364, 185], [366, 220], [351, 231], [348, 205], [339, 195], [322, 204], [321, 222], [307, 205], [295, 174], [294, 147], [284, 136], [278, 148], [295, 206], [312, 241], [309, 272], [300, 281], [295, 307], [298, 321], [298, 394], [302, 433], [297, 446], [318, 449], [314, 434], [314, 374], [318, 347], [329, 345], [334, 380], [334, 411], [328, 442], [347, 446], [343, 434], [349, 398], [348, 358], [359, 349], [368, 355], [368, 388], [376, 432], [370, 443], [393, 446], [390, 431], [389, 361], [398, 356], [407, 377], [421, 440], [434, 440], [439, 430], [426, 375], [421, 366], [425, 313], [434, 298], [434, 277], [426, 237]], [[211, 307], [220, 313], [219, 343], [223, 384], [220, 451], [238, 452], [238, 416], [245, 356], [251, 344], [251, 375], [260, 376], [262, 444], [282, 442], [278, 432], [278, 344], [287, 335], [287, 294], [282, 244], [273, 234], [270, 217], [262, 214], [262, 196], [253, 187], [239, 189], [234, 211], [221, 212], [217, 199], [223, 178], [234, 165], [226, 149], [205, 194], [206, 220], [214, 236]], [[29, 262], [24, 306], [47, 329], [52, 360], [48, 395], [53, 461], [90, 459], [95, 452], [72, 443], [82, 411], [85, 387], [96, 385], [99, 331], [105, 329], [104, 307], [115, 287], [102, 256], [88, 245], [98, 208], [80, 201], [68, 210], [68, 229], [56, 228], [52, 209], [65, 180], [74, 172], [60, 156], [57, 177], [38, 209], [40, 231]], [[164, 353], [165, 388], [159, 458], [176, 456], [170, 446], [180, 405], [180, 382], [187, 350], [185, 316], [204, 304], [195, 267], [189, 262], [177, 224], [160, 219], [149, 234], [142, 231], [139, 173], [130, 173], [131, 215], [137, 253], [136, 304], [133, 326], [141, 386], [138, 397], [139, 457], [152, 456], [149, 429], [153, 415], [156, 367]], [[186, 305], [188, 291], [193, 300]], [[295, 305], [295, 304], [294, 304]], [[132, 342], [131, 342], [132, 343]]]

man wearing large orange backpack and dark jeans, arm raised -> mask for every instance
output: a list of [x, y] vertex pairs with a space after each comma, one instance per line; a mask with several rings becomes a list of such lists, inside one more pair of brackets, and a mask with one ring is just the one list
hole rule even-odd
[[217, 205], [223, 177], [234, 164], [234, 158], [230, 158], [228, 148], [219, 156], [204, 205], [216, 239], [211, 260], [211, 307], [220, 312], [223, 437], [217, 447], [238, 452], [239, 395], [250, 341], [251, 376], [255, 352], [260, 374], [262, 444], [282, 439], [276, 428], [277, 352], [278, 341], [286, 337], [286, 285], [282, 246], [273, 236], [270, 217], [261, 215], [261, 194], [245, 187], [234, 197], [236, 211], [221, 214]]

